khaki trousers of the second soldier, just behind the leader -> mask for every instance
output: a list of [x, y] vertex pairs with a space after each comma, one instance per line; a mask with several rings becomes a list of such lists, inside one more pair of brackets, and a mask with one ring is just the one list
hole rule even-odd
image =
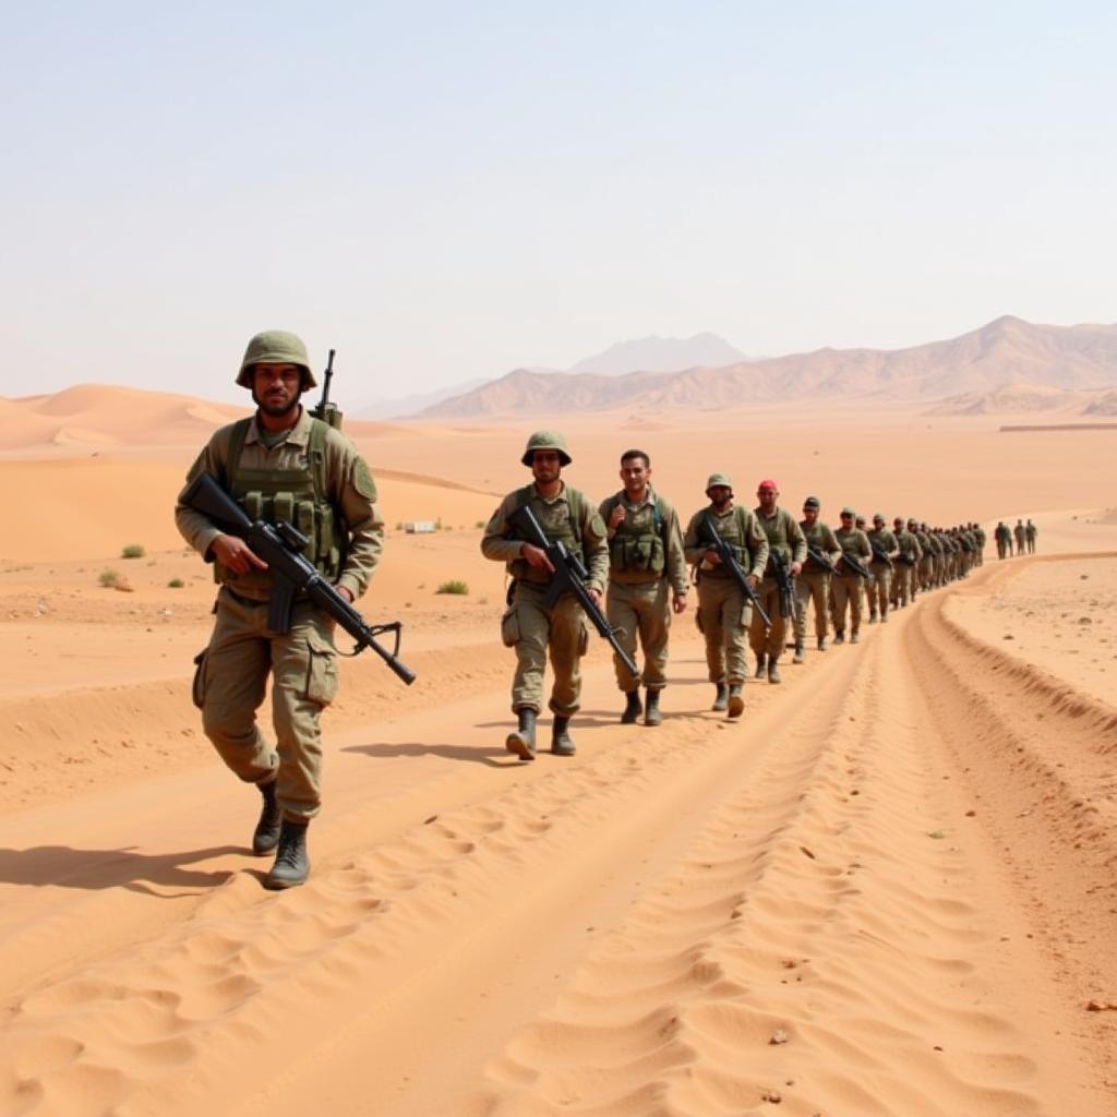
[[504, 642], [516, 649], [516, 675], [512, 681], [512, 708], [543, 708], [543, 674], [551, 652], [548, 707], [560, 717], [577, 713], [582, 696], [582, 656], [590, 633], [585, 613], [577, 599], [564, 593], [548, 609], [543, 603], [545, 588], [517, 582], [515, 595], [504, 614], [500, 631]]

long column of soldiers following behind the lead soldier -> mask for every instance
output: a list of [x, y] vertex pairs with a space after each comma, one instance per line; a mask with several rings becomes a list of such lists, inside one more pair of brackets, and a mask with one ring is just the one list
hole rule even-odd
[[[652, 487], [651, 458], [645, 450], [621, 455], [622, 487], [600, 505], [563, 480], [562, 470], [572, 458], [558, 432], [532, 435], [522, 461], [532, 472], [531, 484], [502, 500], [481, 538], [481, 553], [505, 563], [510, 580], [502, 636], [516, 653], [516, 726], [505, 745], [522, 761], [536, 754], [548, 657], [551, 751], [558, 756], [575, 753], [571, 722], [580, 709], [580, 665], [589, 627], [571, 594], [547, 599], [555, 573], [552, 560], [576, 563], [589, 594], [586, 608], [603, 604], [624, 652], [613, 656], [623, 696], [621, 723], [642, 718], [645, 725], [658, 726], [671, 619], [686, 611], [691, 581], [698, 596], [695, 620], [714, 686], [710, 708], [737, 719], [745, 708], [746, 639], [755, 659], [754, 677], [779, 684], [789, 631], [792, 662], [805, 659], [810, 603], [819, 651], [827, 650], [831, 628], [834, 645], [847, 639], [857, 643], [866, 612], [870, 624], [887, 622], [889, 610], [904, 609], [920, 593], [965, 577], [981, 564], [985, 545], [985, 533], [976, 524], [930, 527], [897, 516], [890, 531], [877, 513], [866, 531], [865, 518], [850, 507], [842, 508], [841, 525], [832, 529], [821, 519], [814, 496], [803, 502], [803, 518], [796, 521], [780, 507], [779, 486], [770, 479], [757, 486], [756, 507], [745, 508], [736, 503], [726, 472], [710, 474], [707, 503], [684, 531], [674, 505]], [[525, 508], [542, 526], [548, 548], [528, 540], [522, 521]], [[636, 663], [638, 652], [643, 662], [633, 671], [626, 658]]]

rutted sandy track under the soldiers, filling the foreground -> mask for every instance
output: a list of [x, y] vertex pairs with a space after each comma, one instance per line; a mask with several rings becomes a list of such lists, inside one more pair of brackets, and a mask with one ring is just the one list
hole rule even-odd
[[3, 820], [0, 1113], [1111, 1114], [1117, 714], [947, 600], [739, 726], [620, 727], [595, 655], [567, 763], [500, 748], [499, 649], [365, 684], [288, 895], [212, 763]]

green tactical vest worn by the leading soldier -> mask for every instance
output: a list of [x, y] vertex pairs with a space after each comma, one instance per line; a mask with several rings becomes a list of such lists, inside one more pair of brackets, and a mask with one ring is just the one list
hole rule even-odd
[[[309, 543], [303, 557], [312, 563], [324, 579], [333, 582], [341, 574], [345, 562], [346, 534], [341, 516], [327, 497], [326, 433], [328, 426], [318, 419], [311, 421], [307, 464], [297, 469], [246, 469], [240, 465], [241, 451], [251, 419], [233, 424], [229, 452], [221, 478], [225, 490], [239, 504], [251, 521], [266, 524], [292, 524]], [[271, 590], [271, 574], [266, 570], [250, 570], [237, 574], [216, 563], [213, 577], [231, 582], [238, 589]]]

